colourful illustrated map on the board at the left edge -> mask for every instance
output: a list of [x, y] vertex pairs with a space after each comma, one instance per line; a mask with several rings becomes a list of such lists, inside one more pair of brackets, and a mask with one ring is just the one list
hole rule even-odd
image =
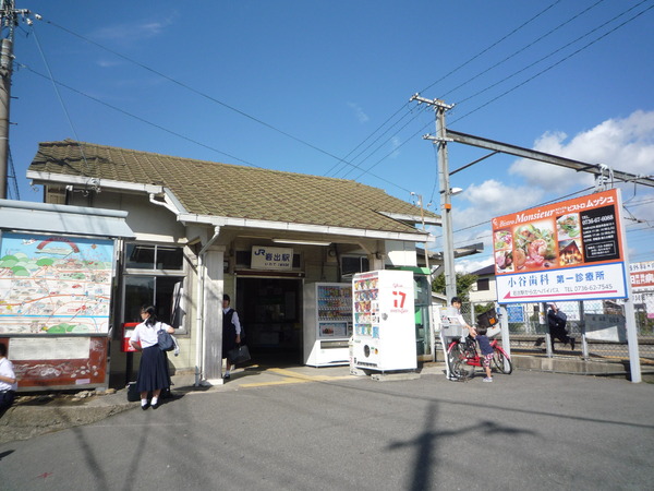
[[107, 334], [113, 241], [2, 233], [0, 334]]

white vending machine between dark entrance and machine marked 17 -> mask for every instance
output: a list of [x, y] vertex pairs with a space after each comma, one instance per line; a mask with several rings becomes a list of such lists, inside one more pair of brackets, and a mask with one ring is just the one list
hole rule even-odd
[[349, 363], [352, 336], [352, 285], [304, 285], [304, 363], [327, 367]]

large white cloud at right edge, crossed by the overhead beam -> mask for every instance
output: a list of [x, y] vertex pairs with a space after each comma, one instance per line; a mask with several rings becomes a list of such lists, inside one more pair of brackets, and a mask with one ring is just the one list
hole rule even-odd
[[[614, 170], [652, 175], [654, 166], [654, 111], [637, 110], [623, 119], [608, 119], [567, 140], [561, 132], [544, 133], [534, 149], [589, 164], [605, 164]], [[591, 185], [584, 172], [534, 160], [513, 163], [509, 173], [518, 175], [534, 188], [546, 190]]]

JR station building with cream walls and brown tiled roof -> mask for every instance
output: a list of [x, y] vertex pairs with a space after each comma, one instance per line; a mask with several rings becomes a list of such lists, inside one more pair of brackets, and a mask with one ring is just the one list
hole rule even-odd
[[[126, 212], [133, 238], [117, 241], [112, 304], [118, 381], [137, 367], [120, 349], [123, 326], [155, 304], [177, 330], [174, 369], [221, 383], [223, 294], [255, 357], [302, 363], [306, 285], [415, 268], [416, 246], [428, 238], [423, 224], [439, 225], [437, 215], [351, 180], [70, 140], [41, 143], [27, 178], [44, 185], [45, 203]], [[420, 326], [419, 354], [428, 336]]]

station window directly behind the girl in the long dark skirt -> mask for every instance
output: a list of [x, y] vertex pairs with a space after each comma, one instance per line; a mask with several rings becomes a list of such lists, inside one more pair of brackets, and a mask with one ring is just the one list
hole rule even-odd
[[123, 272], [123, 322], [141, 322], [155, 306], [159, 321], [184, 328], [184, 251], [174, 246], [129, 243]]

